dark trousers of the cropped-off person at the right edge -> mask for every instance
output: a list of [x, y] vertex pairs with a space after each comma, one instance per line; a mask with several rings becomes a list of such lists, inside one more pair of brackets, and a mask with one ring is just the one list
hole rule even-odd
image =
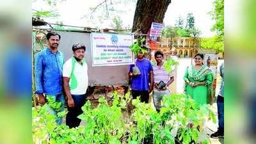
[[219, 131], [224, 134], [224, 97], [218, 95], [217, 98], [218, 107], [218, 120], [219, 120]]

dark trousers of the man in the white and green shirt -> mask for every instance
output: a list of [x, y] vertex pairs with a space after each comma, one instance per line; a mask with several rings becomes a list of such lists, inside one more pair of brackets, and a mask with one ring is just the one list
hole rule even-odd
[[72, 95], [72, 99], [75, 102], [75, 107], [68, 107], [68, 113], [66, 116], [66, 125], [68, 125], [69, 128], [78, 127], [80, 125], [81, 119], [77, 118], [77, 116], [83, 113], [81, 108], [86, 102], [86, 95]]

